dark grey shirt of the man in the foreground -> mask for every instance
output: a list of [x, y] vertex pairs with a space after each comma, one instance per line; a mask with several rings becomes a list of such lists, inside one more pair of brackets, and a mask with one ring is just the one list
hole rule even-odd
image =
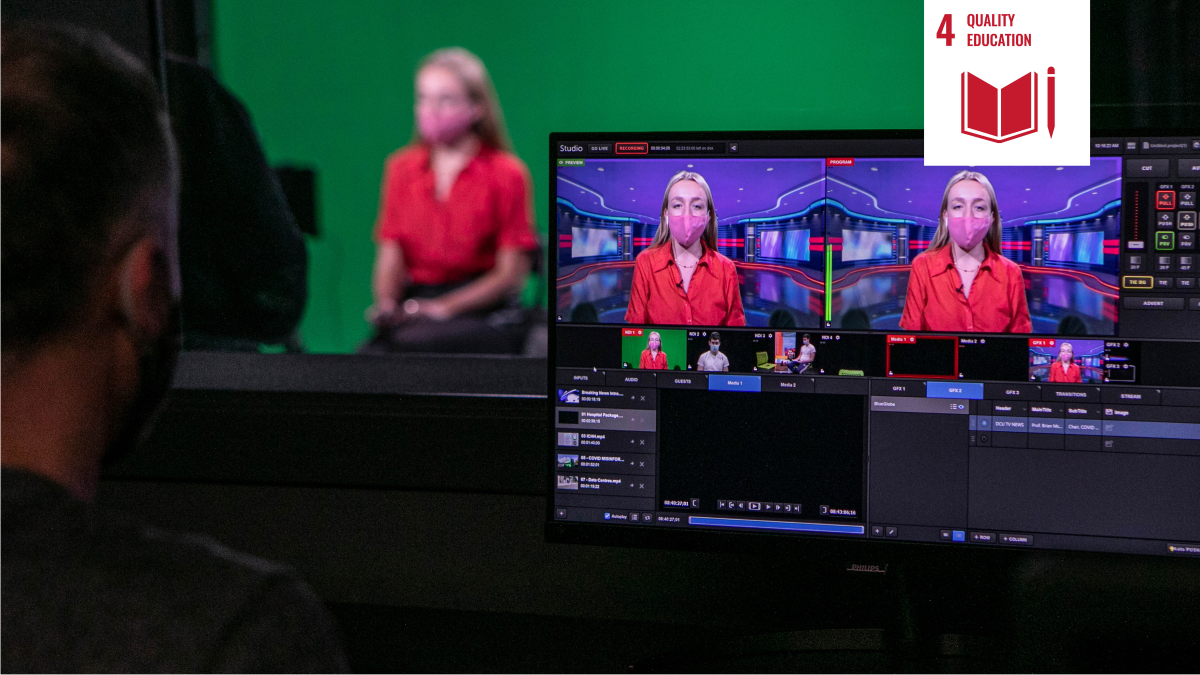
[[344, 671], [324, 608], [288, 568], [74, 500], [2, 470], [0, 669]]

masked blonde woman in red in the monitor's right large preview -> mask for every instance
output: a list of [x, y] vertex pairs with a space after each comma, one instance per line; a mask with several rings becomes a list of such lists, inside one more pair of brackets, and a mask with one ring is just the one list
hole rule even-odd
[[908, 274], [900, 328], [948, 333], [1030, 333], [1021, 268], [1000, 251], [1000, 205], [988, 177], [954, 174], [937, 231]]

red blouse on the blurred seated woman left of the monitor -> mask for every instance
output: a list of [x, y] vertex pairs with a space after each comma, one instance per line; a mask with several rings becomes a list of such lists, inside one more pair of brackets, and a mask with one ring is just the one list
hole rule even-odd
[[415, 283], [466, 281], [496, 267], [500, 249], [538, 247], [529, 171], [509, 153], [481, 148], [439, 202], [428, 148], [402, 148], [388, 157], [382, 192], [376, 239], [400, 243]]

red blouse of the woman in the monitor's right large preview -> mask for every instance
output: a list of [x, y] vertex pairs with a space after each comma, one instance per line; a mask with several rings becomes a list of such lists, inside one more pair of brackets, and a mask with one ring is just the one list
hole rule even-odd
[[1000, 253], [988, 251], [962, 294], [962, 280], [954, 269], [950, 246], [925, 251], [912, 262], [908, 294], [900, 328], [946, 333], [1031, 333], [1030, 306], [1025, 300], [1021, 268]]

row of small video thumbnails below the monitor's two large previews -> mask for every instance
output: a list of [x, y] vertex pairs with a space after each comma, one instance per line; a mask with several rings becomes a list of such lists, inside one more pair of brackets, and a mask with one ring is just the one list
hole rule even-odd
[[608, 372], [608, 387], [654, 387], [647, 377], [656, 372], [1141, 382], [1140, 342], [1111, 338], [582, 325], [557, 330], [557, 365], [602, 369]]

